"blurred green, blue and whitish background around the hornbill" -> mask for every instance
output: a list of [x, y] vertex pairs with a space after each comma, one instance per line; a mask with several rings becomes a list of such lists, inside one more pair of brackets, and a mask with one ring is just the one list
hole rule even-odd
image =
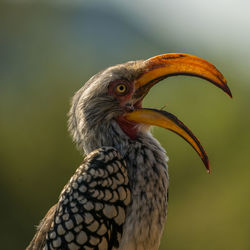
[[185, 52], [214, 63], [234, 97], [179, 76], [144, 101], [184, 121], [212, 168], [153, 129], [170, 156], [160, 249], [250, 249], [249, 13], [245, 0], [1, 2], [0, 248], [25, 248], [82, 161], [67, 132], [74, 92], [108, 66]]

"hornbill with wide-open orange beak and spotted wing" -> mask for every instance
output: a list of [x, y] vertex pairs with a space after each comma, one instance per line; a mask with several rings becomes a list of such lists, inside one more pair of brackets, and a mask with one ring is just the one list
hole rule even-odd
[[159, 248], [167, 217], [168, 156], [150, 127], [181, 136], [210, 172], [204, 148], [183, 122], [142, 106], [154, 85], [177, 75], [203, 78], [232, 97], [213, 64], [184, 53], [111, 66], [75, 93], [68, 128], [85, 158], [27, 250]]

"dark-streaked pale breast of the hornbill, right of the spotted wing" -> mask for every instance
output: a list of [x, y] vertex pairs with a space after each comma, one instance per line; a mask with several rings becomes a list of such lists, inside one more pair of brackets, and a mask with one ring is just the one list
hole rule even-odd
[[[122, 130], [121, 135], [126, 136]], [[122, 156], [128, 168], [131, 203], [119, 249], [158, 249], [167, 212], [166, 154], [151, 134], [126, 140]]]

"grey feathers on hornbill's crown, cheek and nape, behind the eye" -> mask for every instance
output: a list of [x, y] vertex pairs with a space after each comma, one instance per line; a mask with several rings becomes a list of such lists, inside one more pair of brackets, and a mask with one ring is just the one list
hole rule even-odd
[[72, 99], [68, 129], [77, 148], [85, 153], [108, 143], [107, 135], [116, 116], [123, 110], [117, 100], [108, 95], [111, 81], [133, 81], [141, 73], [143, 61], [130, 61], [112, 66], [91, 77]]

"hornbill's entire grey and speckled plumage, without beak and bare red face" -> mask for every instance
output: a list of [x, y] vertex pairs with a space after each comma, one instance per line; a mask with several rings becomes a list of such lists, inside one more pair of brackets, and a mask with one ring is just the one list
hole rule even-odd
[[[135, 140], [125, 134], [114, 119], [122, 110], [106, 91], [110, 79], [122, 75], [132, 81], [137, 63], [118, 65], [97, 74], [74, 96], [69, 130], [87, 157], [63, 189], [57, 205], [41, 222], [27, 249], [158, 249], [167, 211], [165, 150], [152, 137], [149, 127], [141, 125]], [[96, 164], [93, 160], [105, 159], [106, 155], [108, 161]], [[112, 164], [119, 167], [122, 180], [118, 173], [114, 178], [120, 181], [123, 190], [120, 194], [119, 185], [112, 187], [110, 183], [107, 193], [102, 190], [104, 196], [98, 199], [95, 195], [100, 190], [93, 178], [98, 172], [102, 186], [111, 178], [107, 171]], [[91, 181], [85, 180], [86, 176]], [[109, 212], [103, 210], [104, 204], [110, 202], [105, 197], [114, 199]], [[96, 223], [93, 226], [86, 222], [92, 217]], [[105, 227], [104, 235], [98, 234], [101, 225]]]

